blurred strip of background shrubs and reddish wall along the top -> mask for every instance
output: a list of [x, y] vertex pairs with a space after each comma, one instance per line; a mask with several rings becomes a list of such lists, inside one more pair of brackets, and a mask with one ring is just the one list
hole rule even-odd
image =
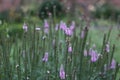
[[0, 19], [21, 22], [28, 16], [40, 19], [52, 16], [117, 21], [120, 15], [119, 0], [0, 0]]

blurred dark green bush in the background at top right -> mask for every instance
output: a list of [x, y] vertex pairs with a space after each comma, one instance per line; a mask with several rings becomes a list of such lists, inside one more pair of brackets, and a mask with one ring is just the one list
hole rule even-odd
[[120, 16], [120, 10], [108, 3], [105, 3], [101, 6], [96, 6], [96, 11], [93, 12], [93, 16], [96, 18], [112, 18], [114, 20], [117, 20]]

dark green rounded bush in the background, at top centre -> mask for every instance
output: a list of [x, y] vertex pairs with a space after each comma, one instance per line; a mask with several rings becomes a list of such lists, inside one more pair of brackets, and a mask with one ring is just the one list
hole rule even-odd
[[45, 0], [40, 5], [39, 17], [41, 19], [48, 18], [49, 14], [53, 17], [62, 17], [64, 15], [63, 5], [59, 0]]

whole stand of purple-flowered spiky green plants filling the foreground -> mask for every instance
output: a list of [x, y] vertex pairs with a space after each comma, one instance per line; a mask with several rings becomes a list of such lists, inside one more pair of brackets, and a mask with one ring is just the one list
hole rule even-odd
[[42, 27], [24, 23], [22, 39], [2, 35], [0, 80], [116, 80], [111, 30], [97, 50], [88, 39], [89, 28], [45, 20]]

